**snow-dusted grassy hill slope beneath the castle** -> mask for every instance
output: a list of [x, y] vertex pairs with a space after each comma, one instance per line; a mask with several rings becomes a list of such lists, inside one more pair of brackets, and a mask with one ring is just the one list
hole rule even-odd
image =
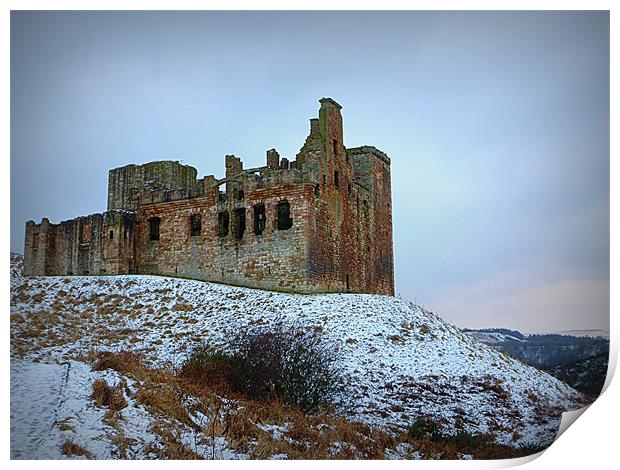
[[550, 375], [399, 298], [281, 294], [157, 276], [22, 278], [14, 265], [11, 273], [17, 431], [14, 416], [24, 411], [13, 384], [29, 386], [32, 361], [66, 364], [91, 351], [131, 350], [169, 367], [199, 344], [234, 348], [240, 332], [275, 323], [320, 332], [347, 378], [337, 410], [385, 429], [424, 416], [493, 432], [504, 444], [540, 446], [555, 437], [561, 413], [584, 402]]

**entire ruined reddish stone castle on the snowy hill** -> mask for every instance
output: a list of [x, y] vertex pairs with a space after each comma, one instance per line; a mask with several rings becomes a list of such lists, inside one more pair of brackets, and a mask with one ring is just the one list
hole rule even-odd
[[341, 106], [320, 100], [295, 161], [267, 151], [197, 179], [174, 161], [110, 170], [108, 208], [26, 223], [24, 274], [160, 274], [292, 291], [394, 295], [390, 159], [345, 148]]

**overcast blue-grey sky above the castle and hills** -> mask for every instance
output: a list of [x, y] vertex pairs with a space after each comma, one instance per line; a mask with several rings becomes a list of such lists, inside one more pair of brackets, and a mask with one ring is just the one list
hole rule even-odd
[[460, 326], [609, 324], [606, 12], [11, 14], [11, 250], [110, 168], [294, 159], [318, 99], [392, 159], [396, 288]]

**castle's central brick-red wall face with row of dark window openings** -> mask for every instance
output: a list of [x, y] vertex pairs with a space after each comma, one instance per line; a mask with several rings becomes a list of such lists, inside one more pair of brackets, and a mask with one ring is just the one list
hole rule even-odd
[[[188, 277], [240, 286], [281, 291], [313, 292], [308, 281], [307, 239], [310, 185], [246, 188], [243, 199], [203, 198], [142, 206], [136, 233], [140, 273]], [[277, 205], [290, 204], [292, 226], [279, 230]], [[254, 206], [265, 207], [265, 225], [254, 233]], [[244, 210], [245, 230], [235, 234], [235, 210]], [[229, 214], [229, 226], [220, 234], [218, 214]], [[192, 236], [191, 218], [199, 215], [200, 233]], [[159, 240], [151, 240], [149, 219], [159, 218]]]

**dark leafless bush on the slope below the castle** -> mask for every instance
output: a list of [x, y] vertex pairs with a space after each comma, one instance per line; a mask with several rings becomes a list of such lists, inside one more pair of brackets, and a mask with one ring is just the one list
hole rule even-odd
[[280, 327], [246, 333], [235, 354], [198, 348], [180, 375], [208, 386], [226, 385], [251, 399], [278, 399], [305, 412], [329, 403], [340, 378], [335, 354], [318, 333]]

